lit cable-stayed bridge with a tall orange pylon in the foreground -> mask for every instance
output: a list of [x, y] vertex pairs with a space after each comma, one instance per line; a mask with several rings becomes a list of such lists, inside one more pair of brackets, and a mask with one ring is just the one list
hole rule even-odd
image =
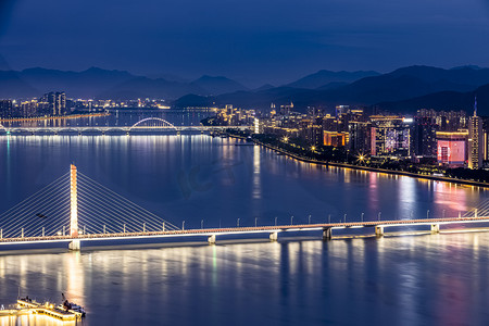
[[[478, 213], [482, 212], [480, 216]], [[389, 227], [428, 226], [432, 234], [449, 224], [468, 225], [489, 223], [489, 203], [464, 215], [447, 218], [417, 218], [315, 223], [294, 225], [268, 225], [252, 227], [224, 227], [185, 229], [158, 216], [115, 191], [104, 187], [83, 173], [75, 165], [41, 190], [32, 195], [7, 212], [0, 214], [1, 244], [67, 242], [72, 250], [80, 249], [80, 241], [204, 237], [215, 243], [217, 236], [265, 234], [272, 241], [280, 233], [323, 231], [324, 239], [331, 239], [338, 229], [371, 227], [377, 237]], [[276, 222], [275, 222], [276, 224]]]

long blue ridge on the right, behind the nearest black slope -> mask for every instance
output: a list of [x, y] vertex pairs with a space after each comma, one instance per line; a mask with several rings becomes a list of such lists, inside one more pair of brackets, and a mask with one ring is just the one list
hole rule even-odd
[[[359, 79], [349, 85], [304, 89], [276, 87], [261, 91], [240, 91], [213, 98], [216, 104], [234, 104], [242, 108], [267, 109], [273, 102], [293, 102], [298, 110], [306, 106], [333, 109], [338, 104], [373, 105], [376, 103], [401, 102], [437, 92], [474, 91], [489, 84], [488, 68], [460, 67], [443, 70], [430, 66], [410, 66], [391, 73]], [[179, 102], [183, 105], [183, 101]]]

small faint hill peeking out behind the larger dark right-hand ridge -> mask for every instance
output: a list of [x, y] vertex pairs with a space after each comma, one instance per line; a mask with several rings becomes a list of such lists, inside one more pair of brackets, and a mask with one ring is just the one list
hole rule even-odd
[[377, 72], [331, 72], [331, 71], [318, 71], [317, 73], [308, 75], [305, 77], [302, 77], [293, 83], [287, 84], [285, 86], [287, 87], [293, 87], [293, 88], [308, 88], [308, 89], [316, 89], [324, 87], [331, 83], [353, 83], [358, 79], [371, 77], [371, 76], [378, 76], [380, 75]]

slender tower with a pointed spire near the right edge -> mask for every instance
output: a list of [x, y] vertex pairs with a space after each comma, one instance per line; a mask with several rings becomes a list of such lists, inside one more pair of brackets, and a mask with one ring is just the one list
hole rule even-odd
[[477, 97], [474, 103], [474, 116], [468, 118], [468, 168], [482, 167], [484, 159], [482, 118], [477, 116]]

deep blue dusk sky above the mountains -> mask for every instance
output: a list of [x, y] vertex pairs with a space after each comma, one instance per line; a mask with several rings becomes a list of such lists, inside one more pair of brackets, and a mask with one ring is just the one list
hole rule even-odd
[[0, 68], [280, 84], [326, 70], [489, 66], [487, 0], [3, 0]]

